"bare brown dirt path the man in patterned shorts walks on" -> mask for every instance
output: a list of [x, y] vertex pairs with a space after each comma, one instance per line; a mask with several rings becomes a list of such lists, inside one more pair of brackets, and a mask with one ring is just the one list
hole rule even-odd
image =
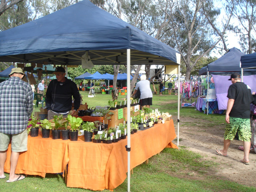
[[[176, 116], [172, 116], [172, 118], [174, 122], [177, 119]], [[211, 126], [206, 127], [204, 124], [211, 124]], [[223, 147], [224, 122], [214, 124], [208, 123], [204, 119], [198, 121], [193, 118], [180, 117], [179, 125], [179, 145], [186, 146], [188, 150], [200, 153], [203, 156], [203, 160], [211, 160], [218, 163], [214, 168], [215, 170], [209, 170], [205, 173], [206, 175], [217, 176], [221, 179], [256, 187], [256, 154], [254, 151], [250, 151], [249, 165], [241, 163], [240, 159], [243, 158], [243, 151], [239, 150], [238, 146], [242, 145], [242, 141], [231, 141], [227, 157], [219, 156], [215, 153], [216, 149], [222, 149]], [[174, 124], [174, 126], [177, 129], [177, 125]], [[176, 141], [174, 143], [176, 144]], [[189, 177], [185, 175], [183, 174], [182, 177]], [[197, 176], [195, 174], [192, 177], [196, 178]]]

